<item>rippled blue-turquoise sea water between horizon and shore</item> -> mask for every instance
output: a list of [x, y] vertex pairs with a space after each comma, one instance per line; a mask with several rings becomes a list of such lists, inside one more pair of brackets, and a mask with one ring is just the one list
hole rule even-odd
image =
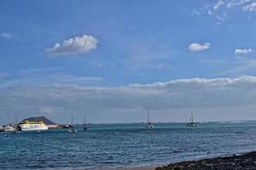
[[108, 169], [147, 166], [256, 150], [256, 122], [90, 125], [67, 129], [0, 133], [0, 169]]

